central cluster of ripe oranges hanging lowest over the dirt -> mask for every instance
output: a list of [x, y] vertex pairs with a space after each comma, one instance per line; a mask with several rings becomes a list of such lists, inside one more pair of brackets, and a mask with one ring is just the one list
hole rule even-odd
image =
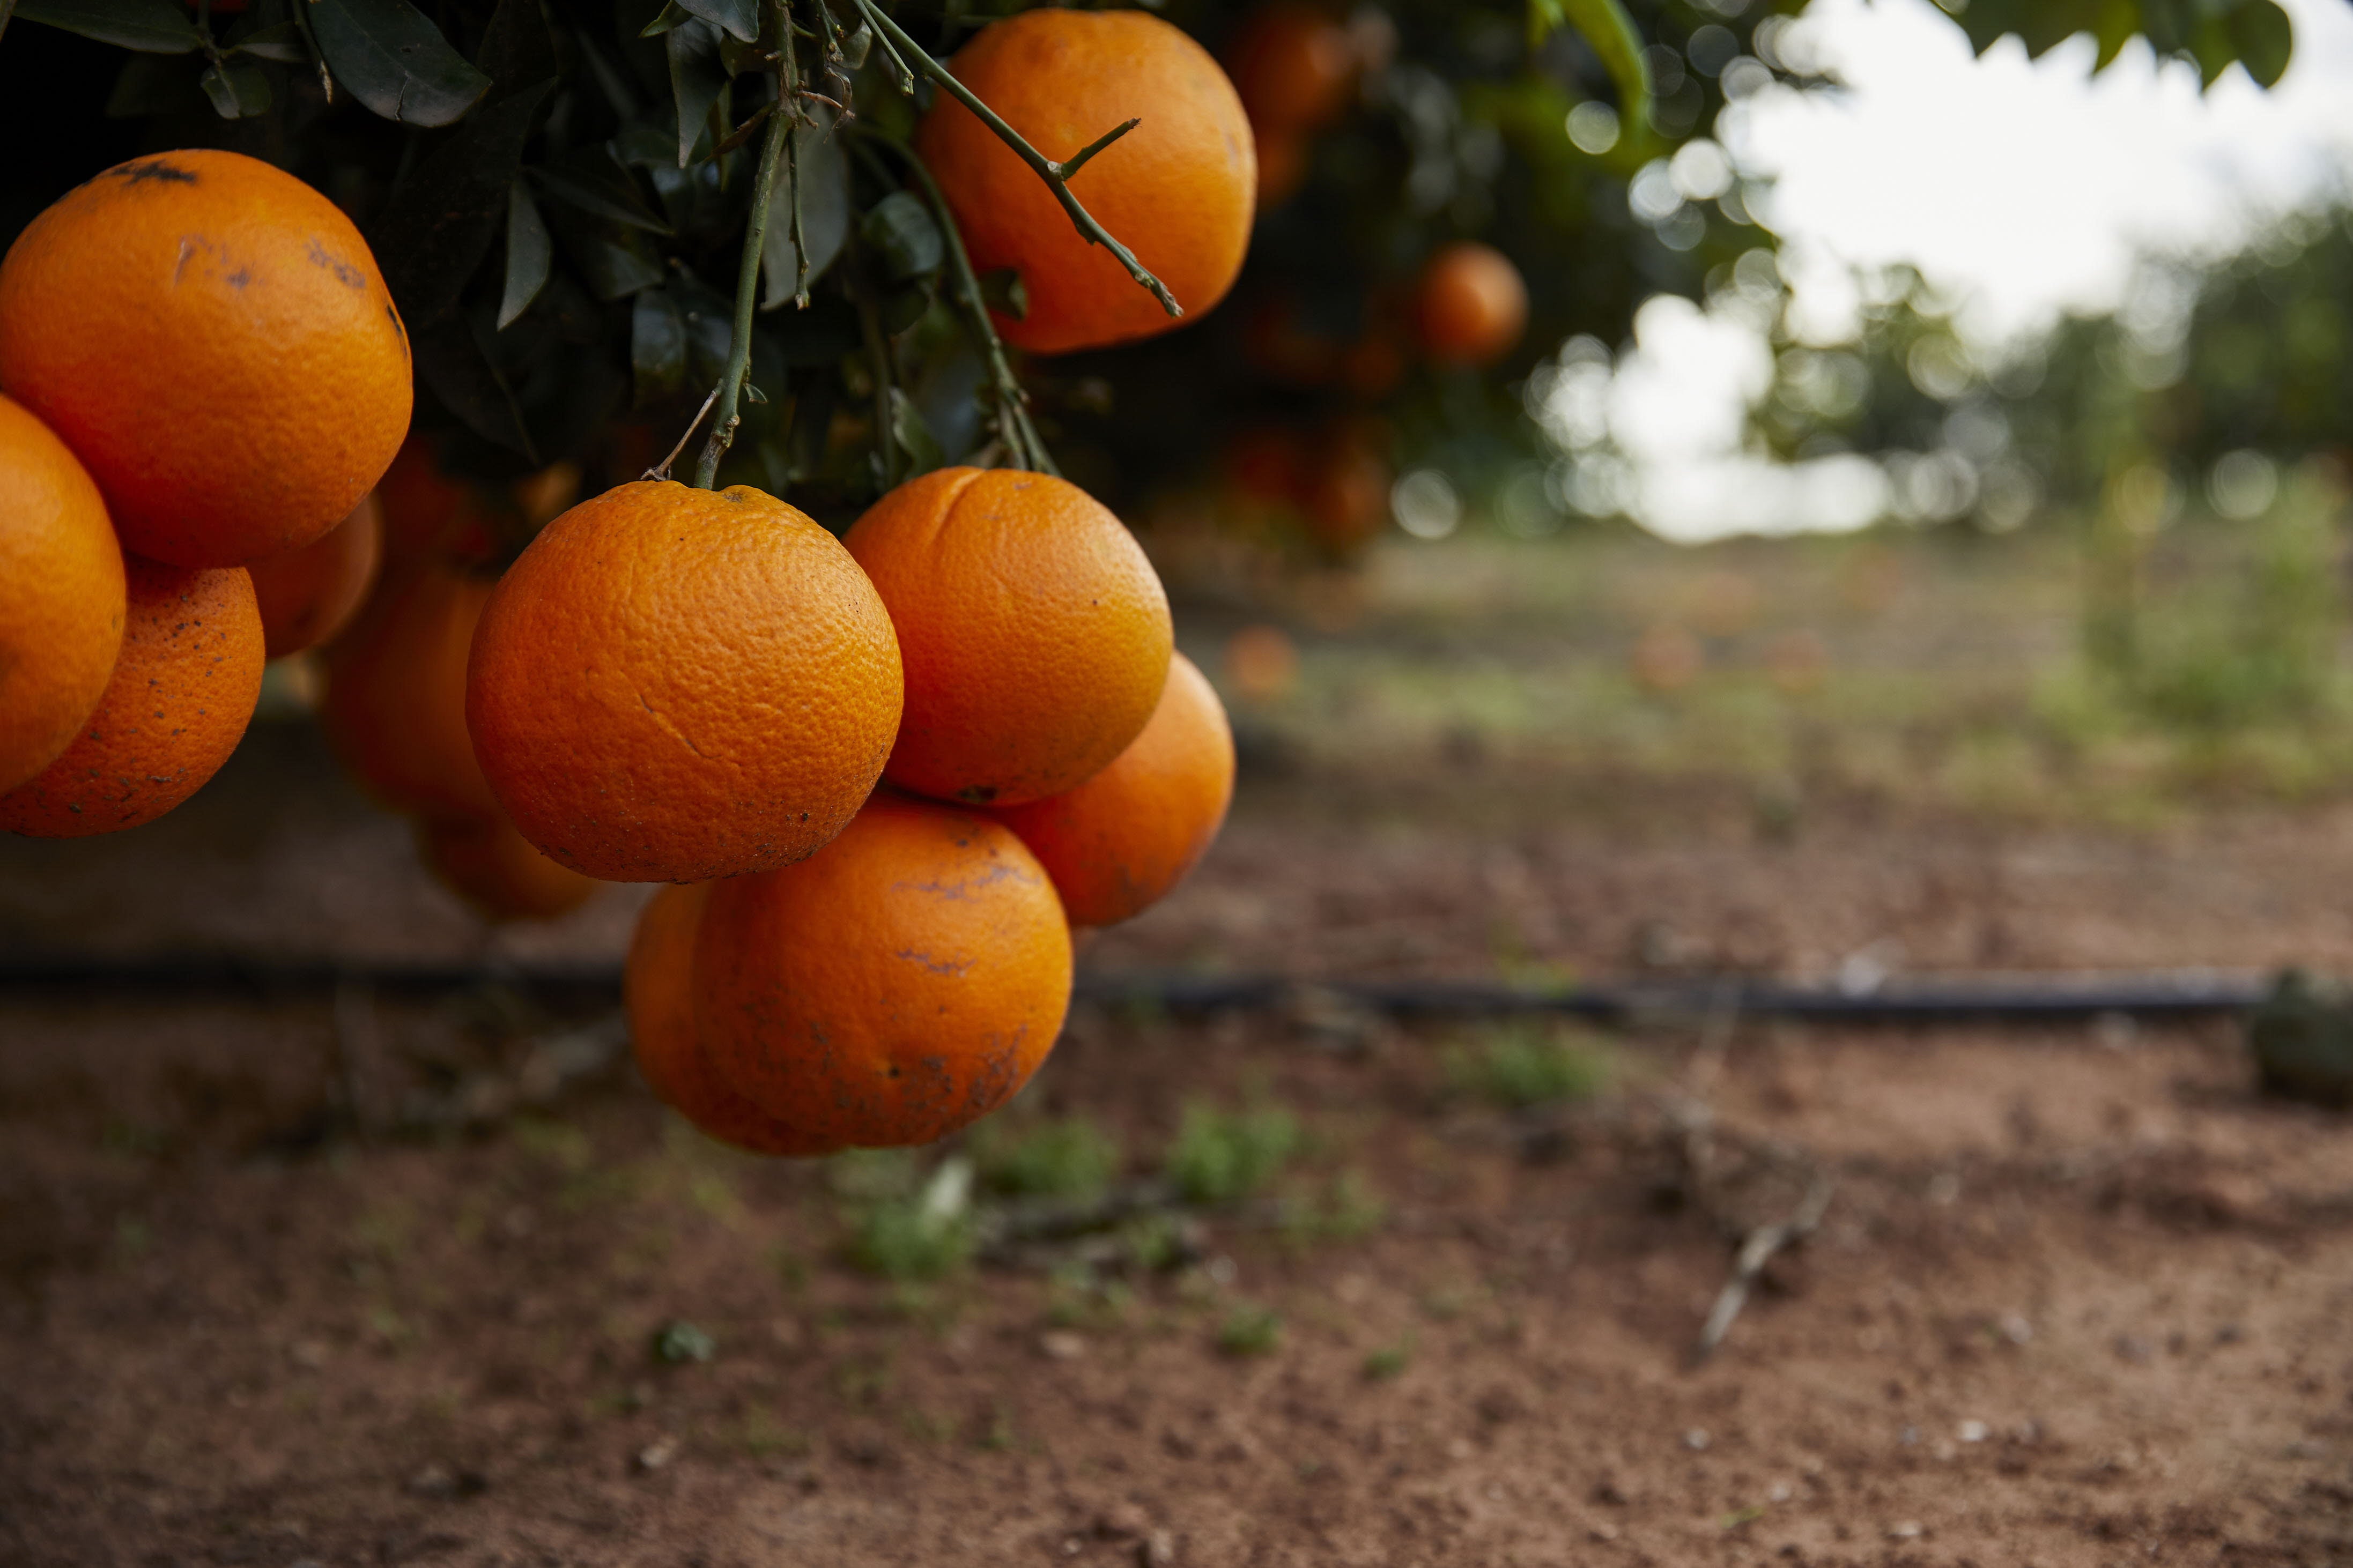
[[[640, 917], [628, 1011], [647, 1081], [713, 1138], [765, 1154], [929, 1143], [988, 1114], [1061, 1032], [1071, 926], [1162, 898], [1209, 846], [1233, 792], [1226, 715], [1174, 654], [1144, 550], [1078, 487], [1019, 470], [946, 468], [901, 484], [835, 545], [840, 562], [816, 543], [831, 536], [802, 538], [791, 508], [758, 491], [621, 487], [605, 501], [668, 520], [645, 524], [664, 548], [685, 548], [694, 517], [739, 508], [765, 520], [767, 550], [802, 552], [788, 574], [758, 578], [765, 597], [704, 599], [713, 649], [779, 661], [741, 677], [774, 715], [762, 736], [781, 745], [779, 762], [687, 748], [692, 717], [668, 733], [621, 715], [612, 691], [671, 693], [720, 658], [675, 628], [635, 635], [626, 604], [600, 623], [593, 656], [576, 639], [501, 630], [496, 616], [581, 625], [569, 616], [605, 604], [595, 583], [614, 562], [659, 581], [619, 545], [595, 557], [607, 567], [527, 576], [541, 536], [475, 639], [478, 750], [544, 849], [576, 853], [605, 835], [595, 842], [633, 867], [689, 844], [734, 856], [727, 870], [682, 858], [696, 886], [664, 889]], [[706, 550], [706, 578], [722, 555], [758, 559], [744, 543]], [[887, 642], [866, 623], [868, 595]], [[795, 623], [791, 637], [762, 630], [774, 614]], [[732, 701], [729, 679], [701, 691]], [[859, 736], [887, 717], [871, 755], [838, 745], [849, 733], [842, 691], [864, 691], [847, 708]], [[576, 788], [529, 776], [546, 741], [522, 715], [548, 733], [579, 726]], [[598, 748], [638, 743], [649, 755], [635, 766], [682, 771], [680, 783], [593, 783]], [[718, 837], [718, 823], [741, 816], [727, 788], [746, 771], [786, 778], [784, 762], [802, 771], [779, 788], [814, 802], [795, 806], [809, 811], [805, 827], [795, 816], [798, 837]], [[687, 778], [696, 764], [699, 783]], [[776, 799], [786, 795], [760, 804]]]

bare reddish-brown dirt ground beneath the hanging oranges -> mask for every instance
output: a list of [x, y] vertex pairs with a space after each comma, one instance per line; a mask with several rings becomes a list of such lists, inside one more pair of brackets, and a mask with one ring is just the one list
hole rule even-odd
[[[1254, 776], [1087, 964], [2353, 966], [2341, 809], [1765, 830], [1489, 783]], [[19, 954], [593, 957], [631, 907], [487, 936], [299, 726], [146, 835], [0, 846]], [[856, 1166], [727, 1154], [626, 1063], [433, 1138], [329, 1114], [605, 1013], [0, 992], [0, 1561], [2353, 1561], [2353, 1138], [2257, 1098], [2224, 1023], [1666, 1020], [1506, 1112], [1449, 1086], [1499, 1025], [1082, 1009], [1016, 1121], [1148, 1175], [1188, 1103], [1280, 1105], [1306, 1152], [1169, 1267], [929, 1284], [845, 1260]], [[1817, 1173], [1821, 1229], [1694, 1366]], [[708, 1359], [654, 1354], [678, 1324]]]

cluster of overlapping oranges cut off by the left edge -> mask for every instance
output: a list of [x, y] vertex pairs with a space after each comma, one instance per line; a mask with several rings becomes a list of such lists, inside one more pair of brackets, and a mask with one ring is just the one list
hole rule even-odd
[[136, 827], [228, 759], [264, 661], [365, 592], [407, 331], [327, 197], [158, 153], [0, 261], [0, 827]]

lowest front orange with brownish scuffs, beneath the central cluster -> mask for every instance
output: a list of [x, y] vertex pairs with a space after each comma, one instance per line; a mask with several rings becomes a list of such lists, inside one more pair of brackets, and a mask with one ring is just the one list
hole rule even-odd
[[1071, 926], [1009, 827], [875, 795], [800, 865], [711, 889], [694, 990], [711, 1067], [781, 1128], [932, 1143], [1052, 1051]]

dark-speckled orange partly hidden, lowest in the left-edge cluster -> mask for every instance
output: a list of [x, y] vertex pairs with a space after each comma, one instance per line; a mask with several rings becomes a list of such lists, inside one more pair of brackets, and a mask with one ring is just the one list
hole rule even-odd
[[0, 827], [80, 839], [153, 823], [221, 771], [261, 698], [261, 609], [242, 567], [122, 559], [122, 654], [89, 724], [0, 795]]

